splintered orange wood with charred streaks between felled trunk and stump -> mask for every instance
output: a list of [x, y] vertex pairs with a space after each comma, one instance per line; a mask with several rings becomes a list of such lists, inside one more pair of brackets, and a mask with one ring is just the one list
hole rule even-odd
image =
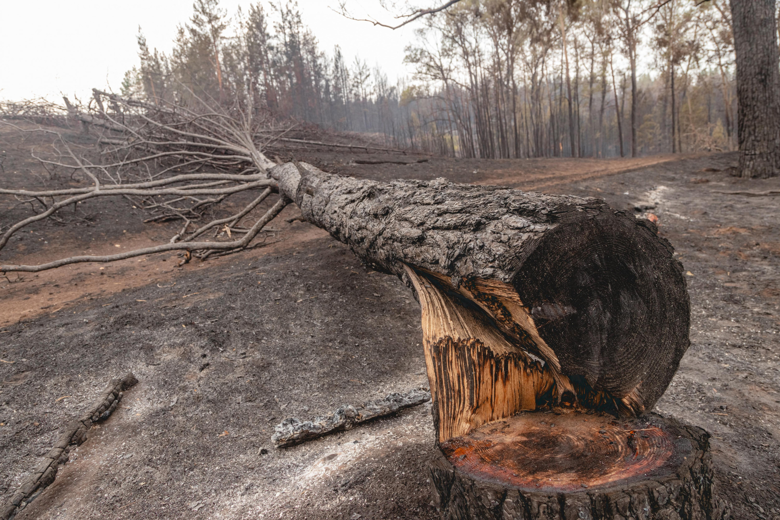
[[476, 309], [406, 267], [422, 306], [423, 341], [438, 440], [521, 410], [555, 384], [548, 365], [512, 345]]

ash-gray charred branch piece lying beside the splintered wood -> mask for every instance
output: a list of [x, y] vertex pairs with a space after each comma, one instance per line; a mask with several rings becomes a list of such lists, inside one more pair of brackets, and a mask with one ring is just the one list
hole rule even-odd
[[293, 446], [328, 433], [352, 430], [360, 423], [389, 416], [399, 410], [422, 405], [430, 400], [431, 392], [415, 389], [404, 394], [388, 394], [384, 399], [368, 401], [358, 408], [353, 405], [342, 405], [332, 414], [318, 416], [311, 421], [301, 421], [294, 417], [285, 419], [275, 427], [271, 440], [277, 447]]

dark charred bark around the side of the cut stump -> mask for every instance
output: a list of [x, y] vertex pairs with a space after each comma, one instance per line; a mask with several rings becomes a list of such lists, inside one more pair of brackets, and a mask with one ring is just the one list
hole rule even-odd
[[[548, 421], [554, 422], [555, 416]], [[709, 435], [674, 419], [654, 415], [650, 421], [673, 432], [681, 448], [676, 454], [677, 463], [665, 471], [639, 474], [607, 486], [587, 486], [587, 475], [583, 475], [579, 489], [538, 490], [503, 485], [500, 477], [488, 480], [469, 475], [456, 469], [440, 450], [429, 467], [434, 503], [445, 520], [728, 518], [727, 504], [718, 496], [714, 480]], [[630, 458], [631, 455], [626, 457], [627, 463]], [[544, 481], [539, 485], [544, 486]]]

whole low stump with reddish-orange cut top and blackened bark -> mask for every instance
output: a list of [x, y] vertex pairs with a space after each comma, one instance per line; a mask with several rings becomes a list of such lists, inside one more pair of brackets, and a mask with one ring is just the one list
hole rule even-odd
[[526, 412], [439, 444], [442, 518], [720, 520], [709, 435], [650, 414]]

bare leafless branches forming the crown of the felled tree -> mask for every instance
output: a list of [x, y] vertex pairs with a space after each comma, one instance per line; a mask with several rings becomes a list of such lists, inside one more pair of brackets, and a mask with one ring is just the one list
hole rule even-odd
[[[4, 265], [0, 267], [3, 272], [37, 272], [67, 264], [110, 262], [172, 250], [185, 250], [188, 256], [205, 260], [215, 253], [234, 253], [253, 246], [251, 242], [264, 225], [289, 203], [282, 196], [260, 218], [253, 219], [253, 225], [237, 227], [277, 191], [276, 181], [268, 178], [268, 168], [275, 162], [269, 161], [254, 141], [255, 136], [264, 136], [260, 139], [264, 142], [283, 133], [283, 129], [276, 131], [272, 122], [257, 119], [251, 115], [252, 111], [240, 107], [223, 108], [200, 98], [199, 106], [185, 107], [165, 101], [151, 105], [100, 90], [94, 90], [93, 94], [94, 103], [90, 108], [65, 101], [69, 118], [87, 125], [87, 132], [82, 133], [80, 140], [93, 139], [94, 145], [75, 145], [53, 129], [2, 122], [30, 135], [42, 133], [55, 137], [53, 151], [34, 152], [33, 156], [53, 171], [66, 168], [72, 172], [70, 179], [87, 181], [90, 186], [0, 189], [0, 195], [13, 196], [20, 203], [30, 204], [34, 213], [3, 226], [0, 250], [12, 235], [27, 225], [46, 218], [66, 223], [57, 216], [58, 211], [71, 205], [75, 209], [80, 207], [77, 204], [99, 196], [125, 197], [133, 207], [150, 214], [145, 222], [181, 220], [183, 225], [164, 245], [114, 255], [72, 256], [40, 265]], [[229, 196], [255, 189], [263, 191], [249, 203], [243, 202], [229, 215], [212, 217], [207, 224], [189, 232], [196, 221], [203, 219], [207, 212], [213, 212], [210, 208], [218, 207]], [[216, 239], [223, 226], [228, 241]], [[214, 228], [217, 230], [215, 240], [195, 241]], [[231, 239], [232, 232], [243, 236]], [[262, 242], [264, 239], [254, 246]]]

